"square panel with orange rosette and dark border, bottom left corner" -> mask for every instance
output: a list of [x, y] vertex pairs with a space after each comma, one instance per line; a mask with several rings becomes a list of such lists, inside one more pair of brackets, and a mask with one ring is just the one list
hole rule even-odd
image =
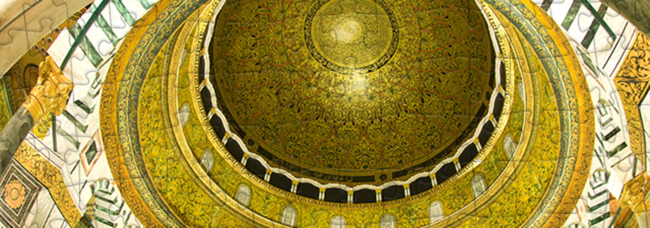
[[0, 179], [0, 216], [9, 227], [22, 227], [43, 185], [16, 160]]

